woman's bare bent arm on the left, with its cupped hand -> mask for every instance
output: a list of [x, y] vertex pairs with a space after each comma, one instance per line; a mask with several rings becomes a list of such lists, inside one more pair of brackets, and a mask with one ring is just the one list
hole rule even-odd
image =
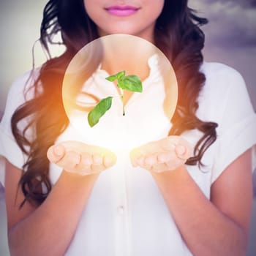
[[[64, 255], [99, 172], [113, 165], [115, 161], [113, 159], [113, 162], [108, 162], [106, 167], [99, 154], [78, 154], [75, 151], [65, 151], [67, 147], [63, 146], [67, 145], [57, 147], [58, 154], [54, 154], [53, 148], [49, 148], [48, 158], [62, 167], [69, 167], [69, 171], [64, 170], [61, 173], [40, 206], [26, 202], [19, 209], [24, 199], [18, 187], [21, 170], [6, 161], [5, 195], [11, 255]], [[72, 146], [75, 146], [74, 143]], [[80, 146], [81, 144], [77, 148]], [[87, 175], [78, 174], [82, 169], [86, 169]]]

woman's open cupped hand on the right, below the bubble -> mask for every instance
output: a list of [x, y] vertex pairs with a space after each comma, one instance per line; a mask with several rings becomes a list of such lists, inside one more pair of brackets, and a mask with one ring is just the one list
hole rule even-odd
[[140, 166], [156, 173], [176, 170], [191, 156], [191, 146], [180, 136], [168, 136], [162, 140], [147, 143], [134, 148], [130, 153], [134, 167]]

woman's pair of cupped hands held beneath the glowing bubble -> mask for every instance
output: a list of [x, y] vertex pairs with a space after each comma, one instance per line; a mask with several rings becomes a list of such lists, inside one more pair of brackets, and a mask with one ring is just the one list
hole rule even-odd
[[[168, 136], [134, 148], [129, 157], [133, 167], [161, 173], [176, 170], [191, 156], [192, 148], [187, 140]], [[107, 148], [74, 140], [50, 146], [47, 157], [67, 172], [82, 176], [101, 173], [116, 164], [116, 154]]]

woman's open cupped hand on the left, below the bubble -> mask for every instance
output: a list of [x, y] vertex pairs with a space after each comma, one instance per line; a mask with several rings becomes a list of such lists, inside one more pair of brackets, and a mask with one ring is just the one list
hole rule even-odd
[[116, 163], [116, 155], [107, 148], [75, 140], [50, 146], [47, 157], [67, 172], [81, 176], [100, 173]]

